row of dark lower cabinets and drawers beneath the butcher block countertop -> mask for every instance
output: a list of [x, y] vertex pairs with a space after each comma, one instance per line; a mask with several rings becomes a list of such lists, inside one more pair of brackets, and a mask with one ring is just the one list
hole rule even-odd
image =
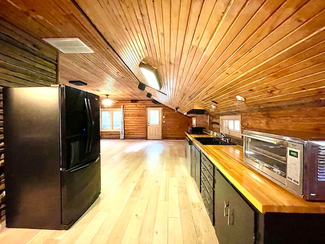
[[193, 146], [193, 163], [198, 162], [193, 165], [193, 177], [201, 175], [202, 200], [220, 244], [325, 243], [325, 214], [262, 214], [235, 190], [208, 157], [201, 153], [201, 160], [198, 159], [199, 153]]

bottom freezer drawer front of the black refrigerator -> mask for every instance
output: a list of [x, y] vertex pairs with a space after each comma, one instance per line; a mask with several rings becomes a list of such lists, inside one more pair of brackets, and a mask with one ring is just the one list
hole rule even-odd
[[67, 171], [61, 171], [62, 226], [69, 228], [101, 192], [100, 157]]

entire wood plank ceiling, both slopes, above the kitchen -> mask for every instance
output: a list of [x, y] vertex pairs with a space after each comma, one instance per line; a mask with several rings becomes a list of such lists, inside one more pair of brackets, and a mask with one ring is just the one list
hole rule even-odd
[[[95, 53], [60, 54], [60, 82], [80, 79], [117, 100], [150, 92], [181, 112], [210, 111], [214, 100], [211, 113], [232, 113], [325, 98], [323, 0], [0, 2], [1, 17], [38, 38], [81, 38]], [[137, 88], [141, 60], [167, 96]]]

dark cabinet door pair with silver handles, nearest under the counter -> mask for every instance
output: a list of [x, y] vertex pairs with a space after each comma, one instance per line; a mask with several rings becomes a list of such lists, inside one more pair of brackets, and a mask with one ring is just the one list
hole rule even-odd
[[254, 210], [215, 169], [215, 231], [220, 244], [254, 243]]

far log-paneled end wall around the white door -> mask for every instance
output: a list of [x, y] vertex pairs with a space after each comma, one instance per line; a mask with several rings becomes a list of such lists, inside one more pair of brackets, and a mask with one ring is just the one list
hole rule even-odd
[[[151, 101], [118, 102], [110, 108], [121, 108], [124, 105], [124, 138], [146, 139], [147, 107], [163, 107], [165, 123], [163, 124], [163, 139], [184, 139], [184, 131], [189, 125], [189, 118], [181, 113], [175, 113], [164, 105], [155, 105]], [[119, 139], [119, 132], [101, 132], [102, 139]]]

